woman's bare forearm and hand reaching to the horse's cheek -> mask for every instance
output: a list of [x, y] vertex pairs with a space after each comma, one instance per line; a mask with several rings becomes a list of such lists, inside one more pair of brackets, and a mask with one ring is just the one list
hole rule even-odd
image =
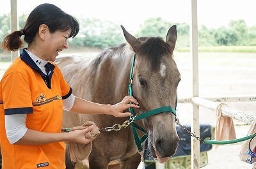
[[76, 97], [70, 111], [80, 114], [108, 114], [114, 115], [115, 117], [127, 117], [131, 113], [124, 113], [123, 111], [130, 107], [139, 108], [138, 102], [132, 96], [125, 96], [121, 102], [115, 105], [102, 105]]

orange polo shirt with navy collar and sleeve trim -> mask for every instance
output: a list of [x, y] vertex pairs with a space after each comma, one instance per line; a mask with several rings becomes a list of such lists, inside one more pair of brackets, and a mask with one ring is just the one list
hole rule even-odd
[[0, 82], [0, 142], [3, 169], [65, 168], [63, 142], [13, 145], [5, 132], [4, 115], [27, 114], [26, 127], [60, 133], [63, 102], [72, 93], [58, 66], [45, 65], [47, 75], [23, 50]]

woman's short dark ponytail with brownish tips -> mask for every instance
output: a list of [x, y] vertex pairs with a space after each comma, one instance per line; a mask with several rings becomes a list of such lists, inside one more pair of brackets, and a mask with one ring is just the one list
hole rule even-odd
[[2, 48], [10, 51], [19, 50], [19, 48], [23, 45], [23, 42], [20, 38], [22, 35], [24, 35], [24, 31], [22, 29], [20, 31], [14, 31], [11, 34], [8, 34], [5, 36], [2, 42]]

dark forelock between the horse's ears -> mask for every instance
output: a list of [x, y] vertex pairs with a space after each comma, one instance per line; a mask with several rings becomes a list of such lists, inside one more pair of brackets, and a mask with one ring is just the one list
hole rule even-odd
[[138, 50], [138, 55], [142, 57], [147, 57], [150, 61], [152, 70], [156, 70], [159, 67], [161, 57], [163, 55], [172, 54], [172, 50], [168, 43], [165, 43], [160, 37], [151, 37], [143, 41], [140, 49]]

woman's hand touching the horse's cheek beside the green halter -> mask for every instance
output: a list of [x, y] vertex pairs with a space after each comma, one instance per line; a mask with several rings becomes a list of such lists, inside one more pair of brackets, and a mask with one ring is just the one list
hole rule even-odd
[[114, 115], [115, 117], [127, 117], [131, 115], [131, 113], [123, 111], [130, 107], [140, 108], [138, 104], [138, 101], [132, 96], [125, 96], [121, 102], [111, 106], [111, 115]]

